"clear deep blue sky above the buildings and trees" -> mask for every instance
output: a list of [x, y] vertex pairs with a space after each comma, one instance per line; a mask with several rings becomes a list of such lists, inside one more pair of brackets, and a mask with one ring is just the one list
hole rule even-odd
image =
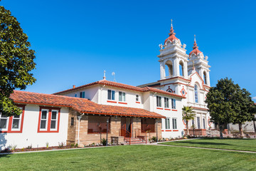
[[208, 56], [210, 84], [233, 78], [256, 96], [256, 1], [2, 0], [36, 51], [37, 81], [55, 93], [102, 79], [137, 86], [160, 78], [159, 43], [171, 19], [189, 53], [193, 35]]

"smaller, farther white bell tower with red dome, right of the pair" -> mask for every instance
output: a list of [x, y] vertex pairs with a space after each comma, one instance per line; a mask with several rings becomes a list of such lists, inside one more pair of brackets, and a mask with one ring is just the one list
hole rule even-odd
[[208, 66], [208, 56], [203, 56], [203, 52], [199, 51], [196, 43], [196, 35], [194, 35], [193, 51], [189, 53], [188, 74], [191, 74], [193, 68], [203, 78], [206, 86], [210, 86], [210, 66]]

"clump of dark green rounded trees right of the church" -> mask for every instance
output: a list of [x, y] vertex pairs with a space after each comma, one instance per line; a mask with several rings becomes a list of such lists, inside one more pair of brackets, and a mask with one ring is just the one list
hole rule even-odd
[[[223, 138], [223, 125], [252, 120], [253, 105], [250, 93], [241, 89], [232, 79], [224, 78], [215, 87], [210, 88], [206, 95], [206, 103], [210, 117], [220, 127], [220, 138]], [[242, 135], [242, 133], [241, 133]]]

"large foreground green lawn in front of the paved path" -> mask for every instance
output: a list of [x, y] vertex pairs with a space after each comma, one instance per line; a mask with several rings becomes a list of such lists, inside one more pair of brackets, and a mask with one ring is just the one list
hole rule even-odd
[[0, 155], [0, 170], [255, 170], [256, 155], [155, 145]]

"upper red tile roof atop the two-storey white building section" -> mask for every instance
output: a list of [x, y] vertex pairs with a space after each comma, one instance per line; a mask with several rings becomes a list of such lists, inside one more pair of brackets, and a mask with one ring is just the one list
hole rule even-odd
[[113, 86], [113, 87], [117, 87], [117, 88], [125, 88], [125, 89], [128, 89], [128, 90], [136, 90], [136, 91], [140, 91], [140, 92], [152, 91], [152, 92], [156, 92], [156, 93], [163, 93], [163, 94], [166, 94], [166, 95], [175, 96], [177, 98], [184, 98], [182, 95], [177, 95], [175, 93], [169, 93], [167, 91], [159, 90], [157, 88], [151, 88], [151, 87], [139, 88], [139, 87], [136, 87], [136, 86], [129, 86], [127, 84], [116, 83], [116, 82], [113, 82], [113, 81], [106, 81], [106, 80], [101, 80], [101, 81], [96, 81], [96, 82], [93, 82], [93, 83], [88, 83], [88, 84], [85, 84], [83, 86], [79, 86], [79, 87], [76, 87], [76, 88], [70, 88], [68, 90], [63, 90], [63, 91], [60, 91], [58, 93], [53, 93], [53, 95], [61, 95], [63, 93], [67, 93], [71, 90], [78, 90], [80, 88], [85, 88], [87, 86], [92, 86], [92, 85], [97, 85], [97, 84], [106, 85], [106, 86]]

